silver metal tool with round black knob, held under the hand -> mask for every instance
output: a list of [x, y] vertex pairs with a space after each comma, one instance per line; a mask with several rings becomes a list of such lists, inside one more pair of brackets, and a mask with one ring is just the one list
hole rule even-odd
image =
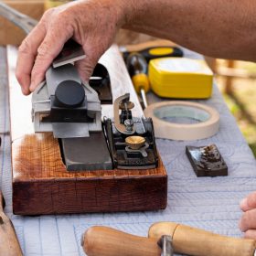
[[71, 65], [50, 68], [46, 81], [32, 94], [35, 132], [53, 132], [56, 138], [89, 137], [101, 132], [101, 101], [89, 84], [81, 82]]

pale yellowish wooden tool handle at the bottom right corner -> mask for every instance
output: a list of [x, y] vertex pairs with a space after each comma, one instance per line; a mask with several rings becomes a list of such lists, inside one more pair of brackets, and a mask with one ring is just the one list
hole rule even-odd
[[155, 223], [148, 235], [156, 240], [170, 235], [174, 251], [194, 256], [253, 256], [256, 249], [255, 240], [224, 237], [173, 222]]

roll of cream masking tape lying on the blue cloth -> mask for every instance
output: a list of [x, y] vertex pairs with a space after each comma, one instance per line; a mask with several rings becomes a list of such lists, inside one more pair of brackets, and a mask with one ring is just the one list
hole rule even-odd
[[157, 138], [200, 140], [219, 131], [219, 112], [196, 102], [158, 102], [144, 109], [144, 115], [153, 119]]

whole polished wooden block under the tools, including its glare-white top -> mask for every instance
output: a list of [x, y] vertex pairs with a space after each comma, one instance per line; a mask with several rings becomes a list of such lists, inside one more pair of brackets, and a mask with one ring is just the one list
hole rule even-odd
[[[9, 58], [8, 62], [13, 63], [15, 59]], [[113, 97], [130, 92], [135, 103], [134, 112], [141, 116], [143, 112], [118, 49], [110, 48], [101, 63], [110, 72]], [[21, 95], [10, 66], [9, 81], [15, 214], [137, 211], [166, 207], [167, 175], [161, 160], [158, 168], [147, 170], [67, 171], [58, 140], [51, 133], [33, 133], [28, 114], [30, 100]], [[102, 113], [112, 117], [112, 105], [102, 106]]]

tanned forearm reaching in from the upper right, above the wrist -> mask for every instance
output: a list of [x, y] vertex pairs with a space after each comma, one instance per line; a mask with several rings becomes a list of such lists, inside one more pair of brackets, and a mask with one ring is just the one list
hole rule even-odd
[[202, 54], [256, 60], [256, 2], [253, 0], [133, 0], [126, 24]]

